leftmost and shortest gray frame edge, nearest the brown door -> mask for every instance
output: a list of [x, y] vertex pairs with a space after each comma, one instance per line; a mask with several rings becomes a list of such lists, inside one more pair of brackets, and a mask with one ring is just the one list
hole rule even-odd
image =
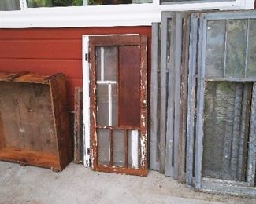
[[159, 170], [158, 162], [158, 51], [159, 24], [152, 24], [151, 84], [150, 84], [150, 169]]

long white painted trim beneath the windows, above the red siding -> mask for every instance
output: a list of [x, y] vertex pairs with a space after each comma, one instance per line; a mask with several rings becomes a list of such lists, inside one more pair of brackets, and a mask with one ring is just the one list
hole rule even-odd
[[52, 8], [27, 8], [27, 6], [23, 4], [21, 11], [0, 12], [0, 27], [150, 26], [152, 22], [160, 22], [161, 11], [199, 9], [254, 9], [254, 0], [193, 3], [177, 2], [170, 5], [159, 5], [159, 0], [153, 0], [153, 3], [146, 4]]

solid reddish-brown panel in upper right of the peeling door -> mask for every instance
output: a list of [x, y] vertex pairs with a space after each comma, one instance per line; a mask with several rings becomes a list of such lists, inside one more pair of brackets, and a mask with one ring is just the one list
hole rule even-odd
[[140, 49], [119, 47], [118, 124], [140, 127]]

